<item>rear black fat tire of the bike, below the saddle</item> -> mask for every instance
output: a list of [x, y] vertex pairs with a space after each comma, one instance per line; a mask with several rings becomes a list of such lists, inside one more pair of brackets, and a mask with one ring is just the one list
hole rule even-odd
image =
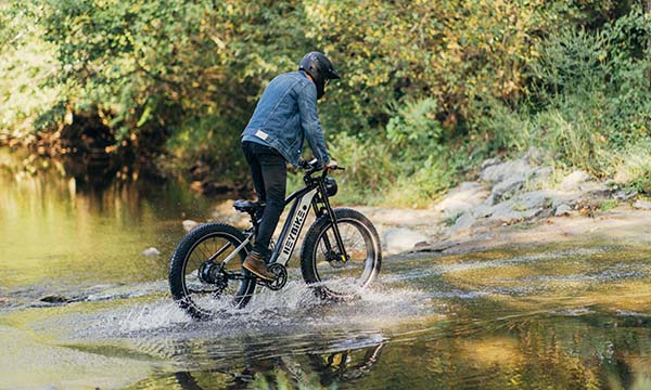
[[[194, 227], [177, 245], [169, 265], [169, 290], [177, 304], [196, 320], [208, 318], [215, 313], [200, 308], [187, 292], [186, 266], [194, 248], [209, 237], [227, 239], [234, 247], [239, 246], [245, 239], [242, 232], [234, 226], [226, 223], [206, 223]], [[240, 263], [244, 261], [248, 251], [251, 251], [251, 245], [246, 245], [240, 252]], [[238, 261], [238, 259], [231, 261]], [[247, 271], [246, 274], [248, 274]], [[255, 280], [241, 281], [233, 306], [244, 308], [253, 297], [254, 291]]]

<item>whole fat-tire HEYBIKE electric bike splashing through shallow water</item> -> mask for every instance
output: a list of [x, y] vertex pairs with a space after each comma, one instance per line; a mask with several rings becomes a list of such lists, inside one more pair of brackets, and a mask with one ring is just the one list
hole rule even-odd
[[[242, 268], [265, 205], [237, 200], [235, 210], [251, 216], [250, 227], [241, 231], [226, 223], [205, 223], [177, 245], [169, 266], [169, 289], [180, 308], [202, 320], [222, 312], [225, 300], [244, 308], [258, 286], [271, 290], [284, 287], [285, 265], [310, 210], [316, 220], [303, 240], [301, 273], [314, 294], [324, 300], [344, 300], [357, 296], [375, 278], [382, 263], [378, 231], [359, 211], [330, 206], [329, 197], [336, 194], [337, 184], [328, 176], [329, 170], [315, 160], [302, 168], [305, 186], [286, 197], [285, 207], [292, 207], [267, 262], [276, 278], [263, 281]], [[343, 168], [330, 171], [335, 169]]]

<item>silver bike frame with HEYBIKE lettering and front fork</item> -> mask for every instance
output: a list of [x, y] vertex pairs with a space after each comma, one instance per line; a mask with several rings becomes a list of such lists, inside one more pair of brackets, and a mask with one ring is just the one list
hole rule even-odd
[[[334, 237], [336, 240], [337, 249], [342, 256], [342, 261], [345, 262], [348, 259], [346, 253], [346, 249], [343, 245], [343, 240], [339, 231], [339, 226], [336, 225], [336, 217], [334, 211], [330, 207], [330, 202], [328, 200], [326, 185], [323, 183], [323, 179], [326, 174], [321, 176], [321, 179], [312, 179], [309, 176], [305, 177], [305, 187], [297, 190], [290, 194], [285, 198], [284, 207], [286, 208], [290, 203], [292, 204], [292, 208], [288, 214], [288, 219], [280, 232], [280, 236], [278, 238], [278, 244], [273, 247], [273, 251], [271, 252], [271, 258], [269, 260], [269, 264], [279, 263], [283, 266], [290, 261], [292, 258], [292, 253], [294, 252], [296, 242], [298, 240], [298, 236], [303, 232], [303, 227], [305, 225], [305, 220], [307, 214], [309, 213], [310, 206], [315, 211], [317, 218], [329, 214], [330, 220], [332, 221], [332, 227], [334, 232]], [[323, 208], [319, 208], [319, 204], [323, 204]], [[225, 260], [224, 264], [228, 263], [232, 258], [235, 257], [246, 245], [251, 243], [254, 238], [255, 233], [252, 231], [246, 239], [235, 248], [235, 250], [230, 253]], [[324, 244], [328, 250], [332, 249], [332, 244], [330, 243], [330, 238], [328, 235], [324, 236]], [[215, 256], [216, 257], [216, 256]]]

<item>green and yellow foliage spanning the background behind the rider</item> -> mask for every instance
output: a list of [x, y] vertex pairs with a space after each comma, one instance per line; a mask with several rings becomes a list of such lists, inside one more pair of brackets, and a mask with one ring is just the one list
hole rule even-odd
[[94, 118], [111, 132], [108, 153], [242, 182], [239, 135], [257, 98], [317, 49], [344, 76], [319, 109], [333, 156], [349, 167], [353, 202], [425, 205], [482, 158], [529, 146], [562, 167], [625, 171], [627, 183], [647, 185], [648, 160], [623, 157], [643, 157], [633, 145], [647, 145], [651, 128], [651, 31], [634, 0], [0, 9], [0, 142], [56, 142], [75, 118]]

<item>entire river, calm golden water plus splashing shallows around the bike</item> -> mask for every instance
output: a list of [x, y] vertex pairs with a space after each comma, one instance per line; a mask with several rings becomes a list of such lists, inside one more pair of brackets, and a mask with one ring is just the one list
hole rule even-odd
[[648, 245], [390, 257], [337, 304], [291, 268], [281, 291], [197, 323], [167, 266], [181, 221], [216, 200], [18, 165], [0, 151], [0, 389], [651, 388]]

